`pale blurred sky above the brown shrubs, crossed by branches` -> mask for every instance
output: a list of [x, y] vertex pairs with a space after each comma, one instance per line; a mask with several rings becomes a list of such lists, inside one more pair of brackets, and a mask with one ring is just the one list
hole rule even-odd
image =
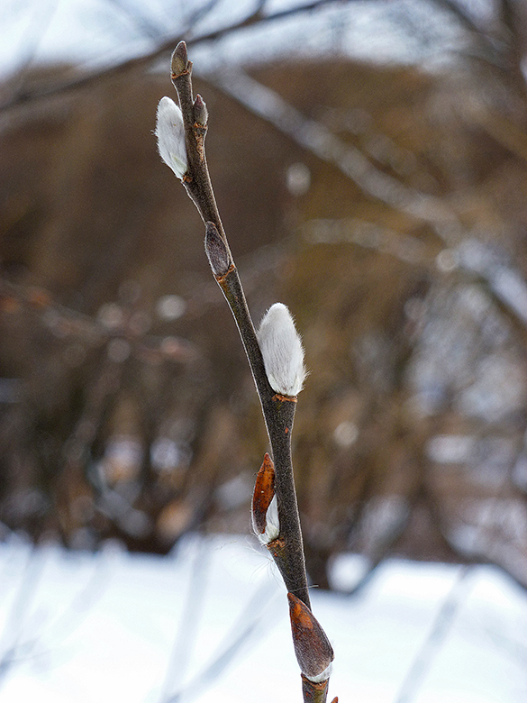
[[[270, 0], [267, 14], [305, 0]], [[471, 9], [490, 0], [470, 0]], [[27, 61], [70, 60], [90, 68], [151, 50], [159, 38], [180, 35], [198, 0], [4, 0], [0, 7], [0, 71]], [[254, 0], [220, 0], [197, 35], [250, 13]], [[215, 61], [255, 62], [291, 52], [337, 50], [359, 59], [437, 65], [459, 49], [460, 34], [432, 0], [358, 0], [316, 14], [237, 32], [193, 50], [195, 67]]]

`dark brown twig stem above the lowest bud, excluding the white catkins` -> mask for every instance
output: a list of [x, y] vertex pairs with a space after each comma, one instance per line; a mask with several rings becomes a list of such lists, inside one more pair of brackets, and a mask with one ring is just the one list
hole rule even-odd
[[171, 79], [177, 90], [185, 128], [187, 169], [182, 182], [206, 225], [205, 251], [214, 278], [222, 288], [240, 332], [258, 390], [275, 463], [275, 491], [280, 534], [272, 545], [268, 545], [268, 548], [275, 557], [287, 590], [310, 607], [304, 545], [291, 458], [291, 434], [295, 420], [296, 398], [277, 393], [271, 388], [268, 380], [241, 279], [232, 259], [214, 198], [204, 152], [206, 107], [200, 96], [195, 98], [193, 96], [192, 63], [187, 59], [186, 44], [183, 41], [177, 45], [172, 56]]

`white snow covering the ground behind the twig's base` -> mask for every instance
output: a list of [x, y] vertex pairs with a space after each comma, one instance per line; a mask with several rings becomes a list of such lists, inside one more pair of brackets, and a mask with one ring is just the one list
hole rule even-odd
[[[313, 589], [313, 610], [341, 703], [527, 699], [527, 594], [499, 571], [387, 561], [354, 598]], [[2, 703], [170, 699], [301, 699], [285, 590], [250, 537], [167, 558], [0, 545]]]

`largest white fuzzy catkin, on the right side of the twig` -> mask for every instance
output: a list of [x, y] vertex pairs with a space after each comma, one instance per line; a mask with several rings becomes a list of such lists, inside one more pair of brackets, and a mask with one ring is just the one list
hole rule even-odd
[[284, 396], [297, 396], [305, 379], [304, 349], [285, 305], [269, 307], [259, 325], [258, 341], [271, 388]]

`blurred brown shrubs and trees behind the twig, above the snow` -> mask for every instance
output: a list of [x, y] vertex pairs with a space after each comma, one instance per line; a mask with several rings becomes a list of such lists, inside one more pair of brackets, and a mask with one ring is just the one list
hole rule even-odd
[[[187, 36], [193, 58], [217, 5], [153, 32], [150, 54], [91, 73], [28, 60], [0, 90], [4, 534], [168, 552], [249, 530], [258, 398], [152, 135], [169, 48]], [[267, 5], [244, 20], [264, 39]], [[313, 44], [327, 6], [355, 4], [311, 5]], [[336, 25], [319, 55], [195, 64], [252, 315], [280, 300], [304, 338], [295, 472], [324, 588], [343, 551], [367, 557], [358, 587], [389, 554], [489, 561], [527, 586], [525, 8], [428, 5], [460, 37], [433, 69], [351, 59]]]

